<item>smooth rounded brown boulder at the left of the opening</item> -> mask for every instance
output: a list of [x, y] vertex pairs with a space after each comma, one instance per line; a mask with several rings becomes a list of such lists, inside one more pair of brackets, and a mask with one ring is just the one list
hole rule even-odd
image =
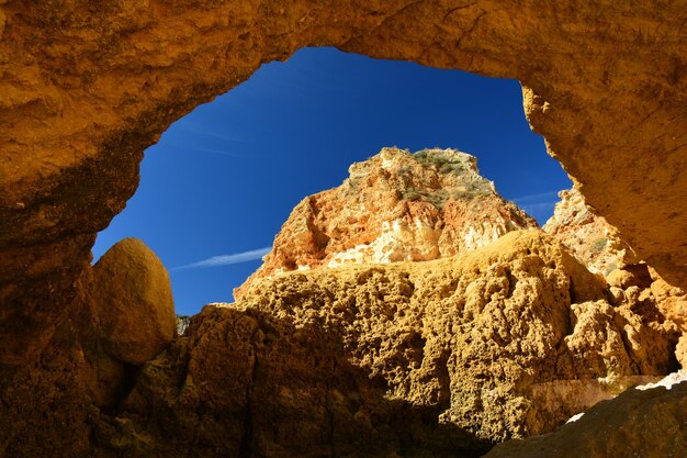
[[122, 361], [147, 361], [177, 333], [167, 269], [137, 238], [117, 242], [95, 264], [89, 302], [105, 350]]

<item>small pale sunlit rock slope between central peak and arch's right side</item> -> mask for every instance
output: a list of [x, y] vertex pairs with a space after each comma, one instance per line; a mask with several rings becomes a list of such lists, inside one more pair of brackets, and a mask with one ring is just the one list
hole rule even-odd
[[561, 201], [543, 230], [561, 241], [590, 271], [607, 276], [640, 260], [618, 230], [587, 206], [576, 188], [561, 191], [559, 197]]

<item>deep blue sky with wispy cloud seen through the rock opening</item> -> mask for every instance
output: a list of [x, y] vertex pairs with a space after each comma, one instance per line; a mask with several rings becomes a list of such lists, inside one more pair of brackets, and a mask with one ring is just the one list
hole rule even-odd
[[138, 237], [170, 270], [177, 313], [230, 302], [295, 204], [383, 146], [473, 154], [540, 224], [571, 186], [530, 131], [517, 81], [306, 48], [171, 125], [93, 256]]

